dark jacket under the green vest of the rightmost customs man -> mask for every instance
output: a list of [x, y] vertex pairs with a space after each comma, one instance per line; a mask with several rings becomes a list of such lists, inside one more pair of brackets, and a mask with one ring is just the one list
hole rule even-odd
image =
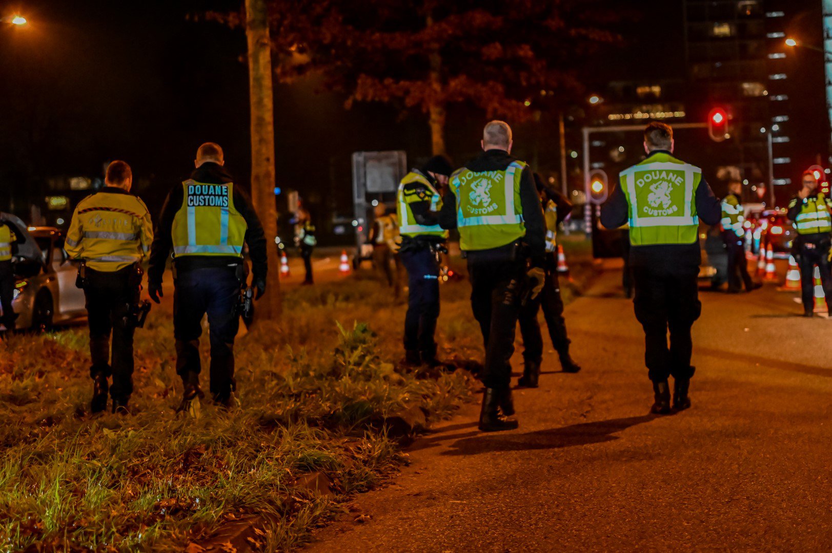
[[[670, 155], [669, 151], [653, 151], [651, 156], [658, 153]], [[650, 159], [650, 156], [647, 156]], [[696, 215], [706, 225], [716, 225], [722, 218], [722, 206], [717, 200], [711, 186], [705, 180], [705, 175], [696, 188]], [[610, 199], [601, 207], [601, 223], [607, 229], [616, 229], [629, 220], [630, 206], [627, 204], [626, 195], [622, 190], [621, 181], [618, 182], [615, 190], [612, 190]], [[692, 244], [660, 244], [650, 246], [632, 246], [630, 249], [630, 264], [637, 266], [665, 266], [676, 265], [699, 265], [702, 262], [702, 255], [699, 239]]]

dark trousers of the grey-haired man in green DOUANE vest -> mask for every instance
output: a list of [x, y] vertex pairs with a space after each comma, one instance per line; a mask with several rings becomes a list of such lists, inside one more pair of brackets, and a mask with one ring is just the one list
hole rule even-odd
[[468, 257], [471, 308], [485, 343], [483, 384], [486, 388], [504, 389], [511, 383], [511, 358], [524, 272], [522, 259], [488, 261], [483, 256]]

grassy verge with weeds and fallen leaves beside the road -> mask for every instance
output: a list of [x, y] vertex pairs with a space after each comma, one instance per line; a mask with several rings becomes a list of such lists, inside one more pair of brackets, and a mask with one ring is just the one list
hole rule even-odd
[[[404, 461], [390, 417], [435, 420], [469, 395], [461, 373], [395, 370], [404, 309], [378, 291], [359, 280], [288, 296], [280, 327], [238, 341], [241, 407], [229, 412], [173, 412], [169, 313], [136, 333], [129, 417], [87, 413], [84, 328], [0, 342], [0, 550], [182, 551], [245, 517], [258, 521], [253, 546], [299, 544], [335, 509], [305, 475], [325, 475], [336, 501], [367, 490]], [[443, 303], [452, 318], [468, 309], [458, 295]], [[456, 348], [476, 352], [471, 324]]]

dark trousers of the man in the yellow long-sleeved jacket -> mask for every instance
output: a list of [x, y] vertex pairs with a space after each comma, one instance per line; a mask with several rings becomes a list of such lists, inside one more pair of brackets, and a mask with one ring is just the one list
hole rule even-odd
[[[87, 321], [90, 325], [90, 376], [112, 375], [110, 395], [127, 401], [133, 393], [133, 331], [131, 305], [139, 299], [135, 269], [106, 273], [87, 268]], [[112, 352], [110, 338], [112, 337]]]

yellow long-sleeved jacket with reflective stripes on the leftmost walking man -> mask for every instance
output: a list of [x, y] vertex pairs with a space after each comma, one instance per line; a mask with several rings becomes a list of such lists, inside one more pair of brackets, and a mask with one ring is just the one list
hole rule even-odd
[[65, 249], [87, 267], [112, 272], [143, 262], [153, 241], [151, 214], [138, 197], [115, 186], [81, 200], [72, 214]]

